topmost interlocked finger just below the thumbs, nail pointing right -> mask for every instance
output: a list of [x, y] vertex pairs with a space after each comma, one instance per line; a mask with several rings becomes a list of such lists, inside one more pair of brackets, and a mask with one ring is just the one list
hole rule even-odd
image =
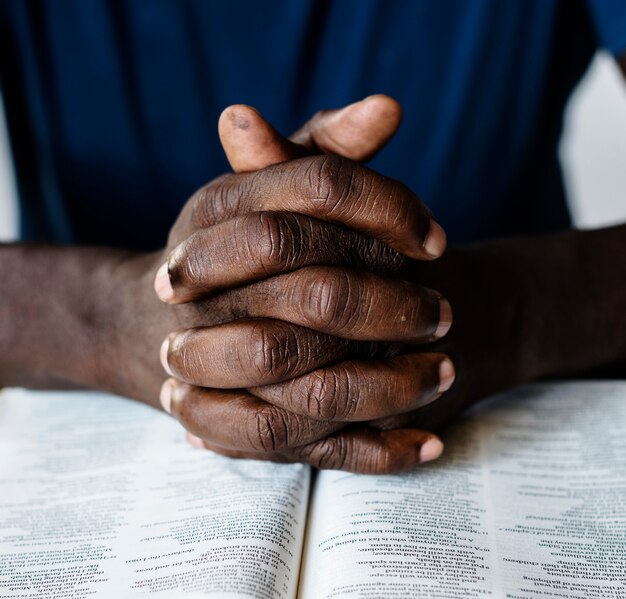
[[339, 156], [312, 156], [220, 177], [191, 200], [194, 228], [237, 215], [287, 211], [367, 233], [411, 258], [432, 260], [445, 233], [402, 183]]

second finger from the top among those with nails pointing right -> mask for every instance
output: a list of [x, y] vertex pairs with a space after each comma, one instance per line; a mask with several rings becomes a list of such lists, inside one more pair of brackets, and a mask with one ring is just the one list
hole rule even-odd
[[223, 298], [250, 317], [363, 341], [430, 342], [452, 324], [450, 304], [436, 291], [339, 267], [301, 268], [227, 291]]

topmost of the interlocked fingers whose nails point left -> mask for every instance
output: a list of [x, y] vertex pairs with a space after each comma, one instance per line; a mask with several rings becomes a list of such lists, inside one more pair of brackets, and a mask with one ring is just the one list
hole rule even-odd
[[[406, 258], [378, 239], [301, 214], [254, 212], [200, 229], [176, 247], [158, 276], [168, 303], [185, 303], [304, 266], [342, 265], [392, 274]], [[164, 290], [166, 290], [164, 292]]]

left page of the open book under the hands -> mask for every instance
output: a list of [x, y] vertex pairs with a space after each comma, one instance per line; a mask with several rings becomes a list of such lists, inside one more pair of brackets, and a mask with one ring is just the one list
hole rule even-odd
[[0, 394], [0, 598], [295, 597], [310, 472], [90, 393]]

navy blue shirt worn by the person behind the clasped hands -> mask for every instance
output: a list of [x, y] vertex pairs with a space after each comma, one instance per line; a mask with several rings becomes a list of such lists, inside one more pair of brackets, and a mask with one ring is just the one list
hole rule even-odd
[[0, 0], [0, 77], [27, 240], [162, 246], [227, 170], [231, 103], [284, 133], [386, 93], [404, 107], [373, 168], [453, 241], [569, 226], [565, 102], [624, 0]]

